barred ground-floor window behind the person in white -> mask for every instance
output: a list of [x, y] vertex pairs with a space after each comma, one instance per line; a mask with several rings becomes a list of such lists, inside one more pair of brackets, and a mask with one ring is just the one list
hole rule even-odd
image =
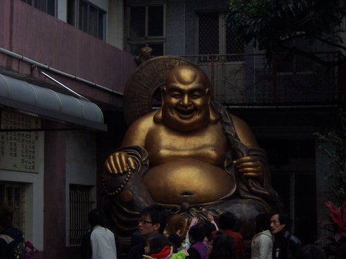
[[80, 244], [89, 231], [88, 213], [92, 209], [91, 186], [70, 184], [69, 244]]

